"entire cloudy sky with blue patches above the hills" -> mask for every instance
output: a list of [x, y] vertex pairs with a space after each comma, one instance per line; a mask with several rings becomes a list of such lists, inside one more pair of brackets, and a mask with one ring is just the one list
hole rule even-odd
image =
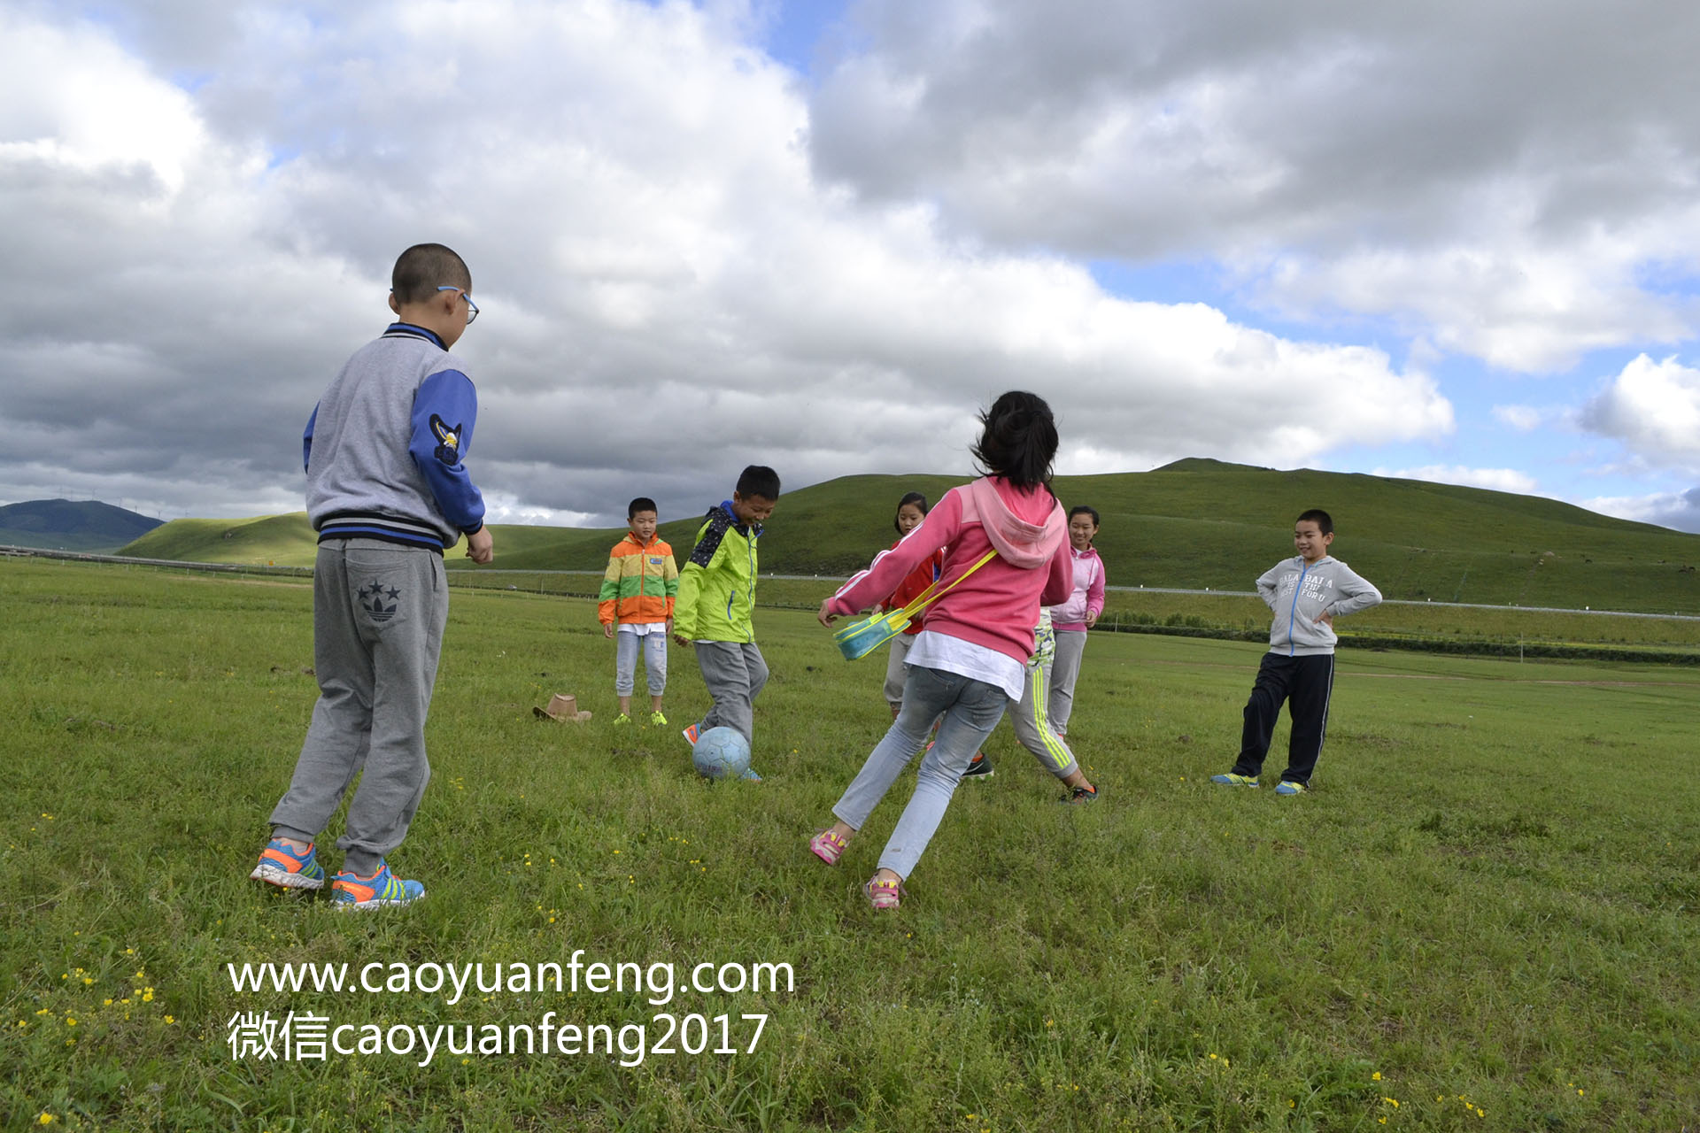
[[0, 0], [0, 503], [301, 508], [459, 250], [496, 521], [1178, 457], [1700, 530], [1700, 7]]

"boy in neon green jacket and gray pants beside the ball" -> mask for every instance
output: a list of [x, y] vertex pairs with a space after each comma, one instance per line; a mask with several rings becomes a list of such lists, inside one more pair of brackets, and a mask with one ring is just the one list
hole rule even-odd
[[[777, 499], [779, 474], [760, 464], [746, 467], [733, 498], [709, 508], [690, 561], [678, 572], [673, 640], [695, 649], [702, 683], [714, 698], [707, 715], [685, 729], [690, 744], [711, 727], [736, 729], [755, 742], [755, 698], [767, 685], [767, 661], [751, 620], [756, 540]], [[762, 776], [750, 769], [745, 778]]]

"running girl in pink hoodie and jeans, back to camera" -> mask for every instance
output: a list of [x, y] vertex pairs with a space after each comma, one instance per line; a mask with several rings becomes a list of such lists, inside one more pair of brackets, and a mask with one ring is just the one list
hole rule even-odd
[[979, 421], [972, 452], [984, 476], [945, 493], [920, 527], [819, 610], [821, 625], [830, 627], [836, 617], [876, 605], [928, 555], [945, 550], [940, 586], [949, 589], [926, 608], [910, 647], [903, 708], [833, 805], [838, 820], [809, 843], [821, 861], [836, 865], [944, 713], [879, 871], [862, 887], [876, 909], [896, 909], [906, 895], [903, 880], [938, 829], [969, 759], [1005, 708], [1022, 698], [1039, 606], [1064, 601], [1073, 583], [1066, 520], [1049, 486], [1057, 450], [1051, 406], [1035, 394], [1008, 392]]

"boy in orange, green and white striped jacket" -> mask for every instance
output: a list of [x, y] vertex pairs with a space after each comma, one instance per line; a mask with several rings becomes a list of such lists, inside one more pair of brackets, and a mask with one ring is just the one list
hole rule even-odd
[[673, 598], [678, 595], [678, 567], [673, 549], [656, 538], [654, 499], [639, 496], [626, 508], [631, 532], [609, 555], [602, 576], [597, 617], [604, 637], [615, 639], [614, 695], [620, 698], [615, 725], [631, 724], [632, 688], [638, 678], [638, 651], [643, 649], [644, 681], [649, 686], [649, 724], [666, 724], [661, 693], [666, 691], [666, 635], [673, 632]]

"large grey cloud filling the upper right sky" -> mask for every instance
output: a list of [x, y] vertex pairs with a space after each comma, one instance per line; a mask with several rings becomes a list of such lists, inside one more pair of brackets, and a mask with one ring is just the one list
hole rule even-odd
[[994, 246], [1207, 256], [1511, 370], [1692, 338], [1700, 8], [1530, 12], [862, 0], [811, 155]]

